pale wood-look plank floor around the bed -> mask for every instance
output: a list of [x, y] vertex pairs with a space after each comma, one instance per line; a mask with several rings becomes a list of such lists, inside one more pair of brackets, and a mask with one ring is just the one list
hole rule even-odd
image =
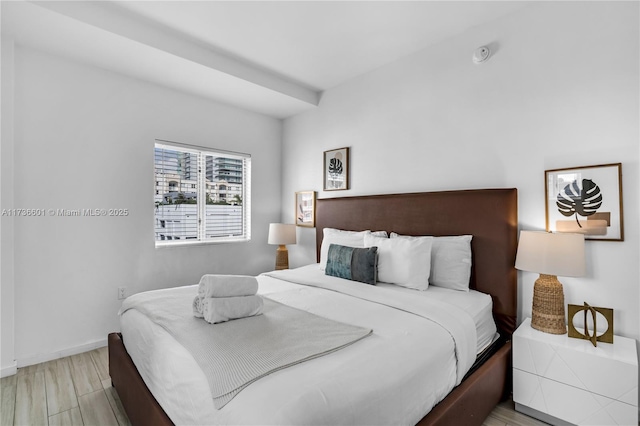
[[[130, 424], [111, 387], [106, 347], [20, 368], [18, 374], [0, 379], [0, 397], [0, 426]], [[544, 424], [516, 412], [513, 401], [498, 405], [484, 422], [485, 426]]]

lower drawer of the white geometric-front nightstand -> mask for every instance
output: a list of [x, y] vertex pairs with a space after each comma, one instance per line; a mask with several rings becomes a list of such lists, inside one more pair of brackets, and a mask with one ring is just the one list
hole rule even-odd
[[573, 424], [635, 425], [638, 422], [635, 405], [516, 368], [513, 370], [513, 400]]

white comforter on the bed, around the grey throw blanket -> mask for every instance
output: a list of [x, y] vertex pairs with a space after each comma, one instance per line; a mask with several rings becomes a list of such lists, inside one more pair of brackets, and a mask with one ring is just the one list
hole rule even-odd
[[[261, 294], [371, 328], [373, 335], [260, 379], [216, 410], [193, 357], [140, 312], [127, 311], [121, 316], [127, 351], [174, 423], [415, 424], [475, 359], [473, 319], [446, 302], [327, 277], [315, 265], [260, 276], [259, 282]], [[197, 286], [158, 291], [195, 296]]]

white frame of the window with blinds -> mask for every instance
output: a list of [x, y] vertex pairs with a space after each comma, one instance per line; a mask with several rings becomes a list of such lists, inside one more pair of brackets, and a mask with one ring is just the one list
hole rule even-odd
[[[199, 147], [194, 145], [186, 145], [179, 142], [171, 142], [161, 139], [156, 139], [154, 143], [154, 191], [156, 194], [158, 186], [158, 178], [155, 174], [155, 150], [156, 149], [169, 149], [180, 152], [188, 152], [197, 155], [197, 215], [198, 215], [198, 230], [196, 239], [179, 239], [179, 240], [157, 240], [156, 233], [154, 232], [154, 241], [156, 248], [160, 247], [177, 247], [177, 246], [193, 246], [202, 244], [220, 244], [220, 243], [233, 243], [233, 242], [246, 242], [251, 240], [251, 155], [233, 151], [225, 151], [220, 149], [213, 149], [207, 147]], [[230, 236], [216, 236], [207, 237], [207, 212], [206, 212], [206, 200], [207, 200], [207, 179], [206, 179], [206, 156], [223, 157], [230, 159], [241, 159], [243, 164], [242, 173], [242, 235], [230, 235]], [[215, 187], [211, 182], [211, 187]], [[231, 184], [227, 184], [231, 186]], [[237, 186], [237, 184], [235, 184]], [[155, 200], [155, 196], [154, 196]], [[158, 220], [154, 209], [154, 226]]]

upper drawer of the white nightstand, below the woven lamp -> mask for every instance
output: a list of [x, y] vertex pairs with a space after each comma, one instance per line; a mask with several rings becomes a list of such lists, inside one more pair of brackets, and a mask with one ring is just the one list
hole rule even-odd
[[566, 334], [552, 335], [531, 327], [518, 331], [513, 336], [514, 369], [638, 405], [634, 340], [616, 337], [614, 344], [599, 343], [593, 347]]

